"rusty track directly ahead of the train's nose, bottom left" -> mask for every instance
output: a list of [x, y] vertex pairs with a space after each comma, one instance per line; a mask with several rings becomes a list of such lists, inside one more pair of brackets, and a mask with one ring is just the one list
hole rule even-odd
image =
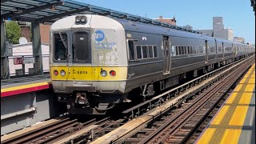
[[[68, 116], [66, 116], [68, 117]], [[19, 134], [13, 138], [2, 141], [5, 143], [62, 143], [69, 141], [70, 139], [85, 138], [88, 141], [92, 140], [91, 135], [100, 133], [104, 128], [113, 126], [118, 121], [110, 120], [108, 118], [102, 118], [96, 121], [96, 118], [90, 119], [87, 122], [78, 122], [78, 119], [62, 118], [57, 122], [50, 123], [46, 126], [42, 126], [35, 130], [30, 130], [24, 134]], [[97, 137], [95, 137], [97, 138]], [[67, 140], [68, 139], [68, 140]]]

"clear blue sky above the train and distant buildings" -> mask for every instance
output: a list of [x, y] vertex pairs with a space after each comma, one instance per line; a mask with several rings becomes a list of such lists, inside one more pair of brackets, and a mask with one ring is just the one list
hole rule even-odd
[[76, 0], [94, 6], [118, 10], [147, 18], [177, 19], [178, 26], [190, 25], [194, 30], [212, 29], [213, 17], [223, 17], [224, 26], [234, 36], [255, 43], [255, 16], [250, 0]]

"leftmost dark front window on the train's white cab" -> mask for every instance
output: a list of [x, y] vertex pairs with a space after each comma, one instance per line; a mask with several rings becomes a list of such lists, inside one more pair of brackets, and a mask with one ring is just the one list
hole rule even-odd
[[66, 61], [67, 59], [67, 34], [56, 33], [54, 34], [54, 60]]

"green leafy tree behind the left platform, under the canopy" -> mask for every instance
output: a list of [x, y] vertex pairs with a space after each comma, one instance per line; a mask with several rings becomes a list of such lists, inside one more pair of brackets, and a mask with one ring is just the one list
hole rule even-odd
[[18, 22], [6, 22], [6, 35], [10, 42], [18, 44], [18, 39], [22, 37], [21, 27], [18, 26]]

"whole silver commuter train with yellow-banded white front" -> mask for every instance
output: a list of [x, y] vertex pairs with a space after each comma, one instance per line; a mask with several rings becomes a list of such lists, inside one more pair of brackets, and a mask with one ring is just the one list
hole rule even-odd
[[131, 102], [131, 91], [147, 98], [242, 58], [249, 54], [242, 46], [142, 22], [74, 15], [51, 26], [50, 76], [69, 113], [105, 114]]

